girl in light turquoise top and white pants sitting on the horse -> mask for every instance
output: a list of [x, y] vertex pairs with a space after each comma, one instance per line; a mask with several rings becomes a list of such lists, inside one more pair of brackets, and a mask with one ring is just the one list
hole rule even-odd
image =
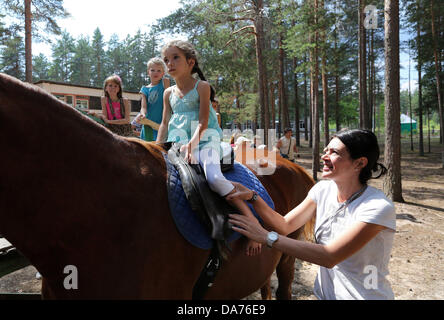
[[[163, 117], [156, 142], [180, 142], [185, 159], [202, 166], [211, 190], [227, 197], [235, 192], [235, 187], [221, 172], [222, 129], [210, 104], [214, 90], [205, 81], [196, 51], [190, 43], [174, 40], [162, 48], [162, 57], [176, 85], [165, 90]], [[193, 77], [195, 73], [201, 80]], [[235, 199], [229, 203], [242, 214], [254, 217], [244, 201]], [[261, 244], [249, 240], [247, 255], [256, 255], [260, 250]]]

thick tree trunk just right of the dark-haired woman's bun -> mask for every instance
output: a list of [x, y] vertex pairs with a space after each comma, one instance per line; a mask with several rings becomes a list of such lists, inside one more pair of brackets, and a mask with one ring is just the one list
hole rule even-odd
[[384, 2], [385, 46], [385, 148], [387, 175], [384, 192], [392, 201], [404, 202], [401, 186], [401, 121], [399, 95], [399, 0]]

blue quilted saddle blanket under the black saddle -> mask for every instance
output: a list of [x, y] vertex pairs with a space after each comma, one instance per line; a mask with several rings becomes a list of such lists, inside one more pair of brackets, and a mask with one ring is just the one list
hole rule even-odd
[[[199, 220], [197, 214], [191, 209], [190, 204], [185, 196], [180, 180], [179, 172], [173, 164], [171, 164], [167, 157], [167, 170], [170, 183], [168, 187], [168, 201], [170, 211], [176, 223], [177, 229], [182, 236], [187, 239], [192, 245], [201, 249], [211, 249], [213, 247], [213, 239], [211, 239], [209, 230]], [[259, 179], [244, 165], [239, 162], [234, 163], [234, 168], [224, 173], [224, 176], [231, 181], [242, 183], [251, 190], [255, 190], [262, 199], [274, 209], [274, 203], [268, 192], [265, 190]], [[248, 204], [253, 214], [261, 221], [253, 206]], [[228, 239], [228, 242], [238, 239], [241, 235], [237, 232]]]

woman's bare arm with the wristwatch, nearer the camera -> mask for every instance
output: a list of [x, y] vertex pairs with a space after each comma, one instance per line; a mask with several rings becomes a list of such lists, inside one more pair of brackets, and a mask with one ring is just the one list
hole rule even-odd
[[[254, 241], [264, 244], [267, 242], [268, 231], [262, 228], [257, 219], [236, 214], [230, 215], [230, 222], [235, 225], [234, 231]], [[385, 227], [381, 225], [358, 221], [326, 245], [294, 240], [279, 235], [273, 248], [298, 259], [326, 268], [333, 268], [363, 248], [383, 229]]]

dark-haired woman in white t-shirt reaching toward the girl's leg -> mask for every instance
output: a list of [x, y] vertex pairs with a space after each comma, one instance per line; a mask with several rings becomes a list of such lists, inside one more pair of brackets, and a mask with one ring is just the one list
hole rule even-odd
[[[320, 266], [314, 285], [319, 299], [393, 299], [386, 276], [396, 228], [393, 203], [367, 185], [386, 168], [378, 163], [376, 136], [368, 130], [346, 130], [324, 149], [322, 177], [306, 199], [285, 216], [272, 210], [242, 185], [231, 198], [250, 201], [265, 224], [230, 215], [233, 230], [298, 259]], [[377, 174], [373, 177], [373, 174]], [[313, 216], [315, 243], [286, 235]]]

